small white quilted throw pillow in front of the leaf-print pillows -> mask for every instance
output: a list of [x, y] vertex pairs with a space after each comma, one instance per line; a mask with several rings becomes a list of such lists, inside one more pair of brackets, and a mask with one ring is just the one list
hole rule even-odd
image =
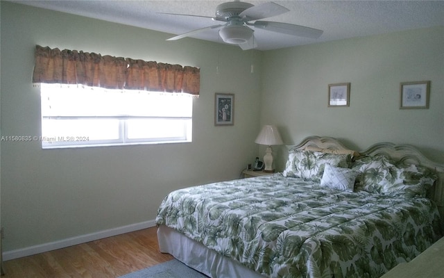
[[321, 186], [353, 192], [357, 175], [355, 170], [334, 167], [327, 163], [321, 179]]

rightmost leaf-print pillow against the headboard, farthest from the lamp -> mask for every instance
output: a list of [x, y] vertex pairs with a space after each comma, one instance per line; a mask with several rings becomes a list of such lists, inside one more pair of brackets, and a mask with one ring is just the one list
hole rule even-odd
[[393, 177], [393, 182], [386, 183], [382, 192], [404, 197], [426, 197], [437, 179], [435, 172], [420, 165], [398, 166]]

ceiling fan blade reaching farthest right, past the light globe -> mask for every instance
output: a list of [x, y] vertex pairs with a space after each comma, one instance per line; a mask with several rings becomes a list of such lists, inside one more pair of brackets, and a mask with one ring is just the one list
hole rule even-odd
[[253, 24], [256, 28], [264, 29], [266, 31], [272, 31], [287, 35], [296, 35], [298, 37], [305, 37], [305, 38], [319, 38], [324, 31], [310, 28], [306, 26], [300, 26], [296, 24], [288, 24], [288, 23], [282, 23], [282, 22], [264, 22], [264, 21], [257, 21]]

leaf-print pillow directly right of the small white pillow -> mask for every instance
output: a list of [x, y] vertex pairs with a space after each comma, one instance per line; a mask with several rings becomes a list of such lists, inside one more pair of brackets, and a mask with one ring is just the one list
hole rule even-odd
[[393, 183], [396, 167], [385, 156], [364, 156], [355, 161], [352, 169], [358, 172], [356, 190], [383, 193], [384, 186]]

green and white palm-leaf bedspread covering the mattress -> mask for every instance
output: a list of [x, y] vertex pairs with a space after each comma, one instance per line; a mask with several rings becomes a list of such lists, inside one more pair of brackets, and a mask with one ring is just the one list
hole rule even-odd
[[267, 277], [380, 277], [441, 237], [429, 199], [282, 174], [173, 191], [156, 222]]

